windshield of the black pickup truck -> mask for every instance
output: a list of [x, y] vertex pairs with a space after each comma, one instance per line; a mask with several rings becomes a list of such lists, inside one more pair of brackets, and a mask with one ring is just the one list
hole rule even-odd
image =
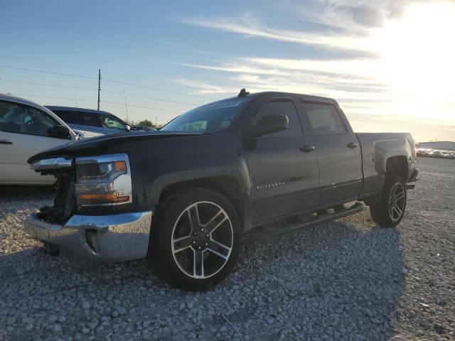
[[237, 114], [250, 102], [251, 97], [223, 99], [190, 110], [170, 121], [161, 131], [200, 131], [215, 133], [234, 121]]

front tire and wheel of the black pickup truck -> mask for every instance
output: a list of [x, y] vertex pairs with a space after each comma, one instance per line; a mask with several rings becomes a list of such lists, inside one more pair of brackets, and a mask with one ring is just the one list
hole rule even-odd
[[204, 291], [228, 276], [240, 254], [240, 220], [218, 192], [174, 193], [156, 210], [147, 260], [169, 285]]

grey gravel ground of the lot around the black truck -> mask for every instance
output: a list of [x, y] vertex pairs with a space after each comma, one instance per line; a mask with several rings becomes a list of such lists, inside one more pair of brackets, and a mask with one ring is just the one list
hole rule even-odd
[[455, 161], [419, 159], [399, 227], [368, 210], [272, 241], [186, 293], [146, 261], [50, 256], [22, 232], [44, 188], [1, 188], [0, 340], [455, 340]]

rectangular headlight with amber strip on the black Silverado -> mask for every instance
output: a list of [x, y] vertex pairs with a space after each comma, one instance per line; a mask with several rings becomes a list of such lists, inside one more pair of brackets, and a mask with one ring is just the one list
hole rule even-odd
[[75, 163], [77, 205], [106, 206], [132, 202], [127, 154], [76, 158]]

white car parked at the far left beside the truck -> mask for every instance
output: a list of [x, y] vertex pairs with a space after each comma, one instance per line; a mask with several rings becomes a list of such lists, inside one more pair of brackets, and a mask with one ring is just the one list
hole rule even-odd
[[50, 185], [51, 175], [30, 169], [28, 158], [77, 140], [77, 134], [45, 107], [0, 94], [0, 185]]

